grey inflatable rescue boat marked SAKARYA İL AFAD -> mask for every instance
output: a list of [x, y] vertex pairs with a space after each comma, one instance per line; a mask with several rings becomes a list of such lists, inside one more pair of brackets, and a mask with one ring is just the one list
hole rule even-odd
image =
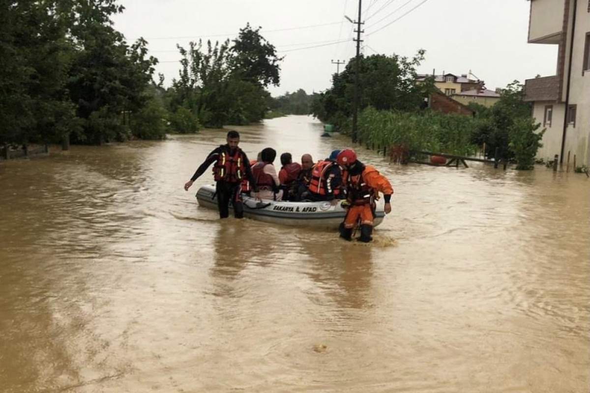
[[[217, 210], [215, 186], [202, 186], [196, 193], [196, 200], [199, 206]], [[243, 195], [243, 201], [244, 217], [273, 224], [337, 228], [346, 216], [346, 209], [343, 209], [340, 203], [332, 205], [330, 202], [258, 200], [246, 195]], [[231, 204], [230, 209], [232, 209]], [[377, 203], [375, 226], [381, 224], [383, 217], [385, 217], [383, 204]]]

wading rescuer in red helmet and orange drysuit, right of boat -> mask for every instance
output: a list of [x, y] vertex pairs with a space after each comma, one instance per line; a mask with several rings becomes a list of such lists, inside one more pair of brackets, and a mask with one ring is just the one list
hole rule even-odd
[[340, 226], [340, 237], [352, 240], [352, 231], [360, 222], [361, 242], [371, 242], [373, 238], [373, 219], [375, 218], [375, 200], [379, 199], [379, 192], [385, 199], [385, 213], [391, 213], [391, 195], [394, 189], [389, 181], [379, 173], [375, 167], [365, 165], [356, 159], [352, 149], [342, 150], [336, 158], [338, 164], [346, 172], [346, 201], [343, 207], [348, 207], [344, 222]]

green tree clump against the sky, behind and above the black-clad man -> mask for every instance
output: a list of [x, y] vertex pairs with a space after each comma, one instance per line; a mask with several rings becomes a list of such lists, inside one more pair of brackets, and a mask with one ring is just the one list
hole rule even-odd
[[270, 99], [265, 87], [278, 84], [282, 59], [259, 29], [246, 25], [233, 41], [178, 45], [182, 68], [166, 93], [169, 110], [185, 108], [207, 127], [263, 119]]

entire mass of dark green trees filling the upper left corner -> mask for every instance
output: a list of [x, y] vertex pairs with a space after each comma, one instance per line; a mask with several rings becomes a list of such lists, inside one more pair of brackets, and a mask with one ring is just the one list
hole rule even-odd
[[131, 136], [157, 60], [145, 40], [129, 45], [113, 28], [123, 9], [115, 0], [0, 2], [1, 144]]

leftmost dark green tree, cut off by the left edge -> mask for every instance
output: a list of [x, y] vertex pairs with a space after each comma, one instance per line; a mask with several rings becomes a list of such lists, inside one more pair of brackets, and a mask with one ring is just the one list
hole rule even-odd
[[48, 142], [76, 128], [64, 85], [70, 67], [68, 19], [61, 2], [2, 2], [0, 142]]

